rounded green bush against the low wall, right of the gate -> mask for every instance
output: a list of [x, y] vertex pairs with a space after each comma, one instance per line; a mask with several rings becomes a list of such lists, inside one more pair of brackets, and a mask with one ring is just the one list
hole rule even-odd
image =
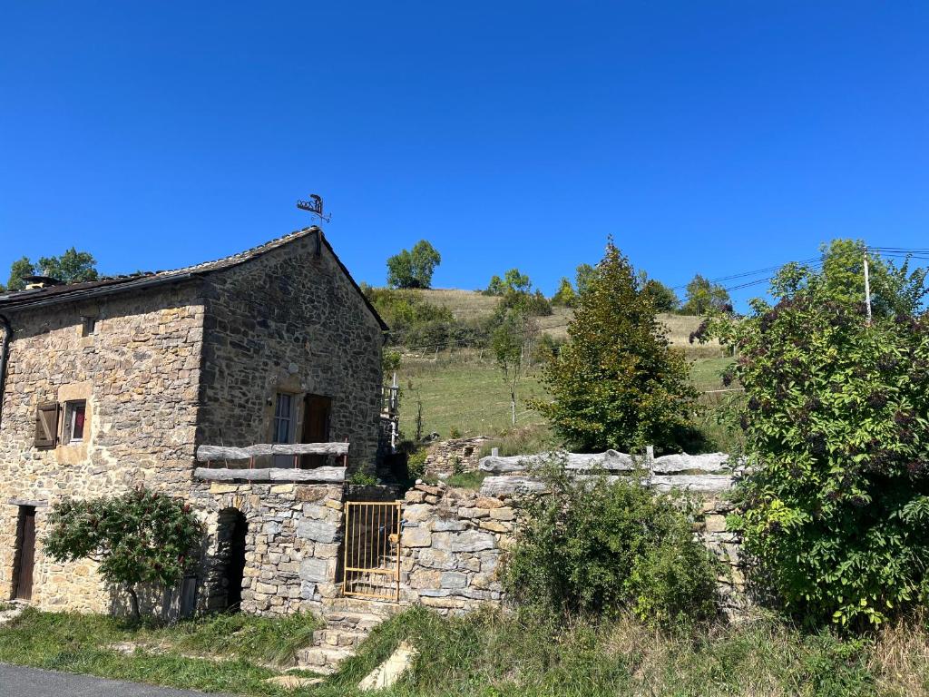
[[517, 602], [566, 614], [635, 612], [655, 625], [715, 612], [716, 562], [693, 539], [684, 504], [637, 480], [573, 480], [562, 463], [539, 473], [550, 494], [530, 499], [506, 562]]

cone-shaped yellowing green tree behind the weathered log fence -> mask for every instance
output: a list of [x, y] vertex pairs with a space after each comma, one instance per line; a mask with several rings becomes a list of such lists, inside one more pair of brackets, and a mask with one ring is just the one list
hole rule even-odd
[[554, 401], [536, 408], [585, 451], [680, 448], [690, 436], [697, 391], [666, 334], [629, 261], [610, 241], [578, 298], [568, 343], [545, 367]]

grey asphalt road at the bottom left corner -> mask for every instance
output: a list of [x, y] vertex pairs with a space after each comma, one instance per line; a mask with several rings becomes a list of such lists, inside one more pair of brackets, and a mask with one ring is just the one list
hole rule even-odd
[[203, 697], [203, 694], [0, 664], [0, 697]]

